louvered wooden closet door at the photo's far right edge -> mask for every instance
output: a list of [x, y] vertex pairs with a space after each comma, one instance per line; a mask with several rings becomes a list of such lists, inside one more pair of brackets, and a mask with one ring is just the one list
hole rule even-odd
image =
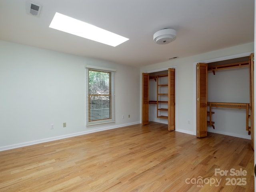
[[251, 145], [254, 149], [254, 54], [249, 56], [249, 89], [250, 89], [250, 126], [251, 126]]

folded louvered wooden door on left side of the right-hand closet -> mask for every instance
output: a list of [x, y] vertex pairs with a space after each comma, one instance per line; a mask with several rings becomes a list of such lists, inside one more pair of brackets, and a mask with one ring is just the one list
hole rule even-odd
[[196, 136], [207, 136], [207, 63], [196, 65]]

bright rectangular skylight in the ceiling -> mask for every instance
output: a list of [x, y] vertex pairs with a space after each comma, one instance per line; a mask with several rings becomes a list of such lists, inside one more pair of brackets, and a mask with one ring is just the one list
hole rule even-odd
[[97, 41], [110, 46], [118, 46], [129, 40], [123, 36], [88, 24], [86, 22], [74, 19], [72, 17], [56, 12], [50, 28], [60, 30], [69, 34], [80, 36], [86, 39]]

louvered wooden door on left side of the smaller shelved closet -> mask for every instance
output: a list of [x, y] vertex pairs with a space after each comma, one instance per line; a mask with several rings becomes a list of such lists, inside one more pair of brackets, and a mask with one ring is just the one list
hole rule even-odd
[[142, 73], [142, 125], [148, 124], [149, 118], [149, 96], [148, 96], [148, 89], [149, 89], [149, 74]]

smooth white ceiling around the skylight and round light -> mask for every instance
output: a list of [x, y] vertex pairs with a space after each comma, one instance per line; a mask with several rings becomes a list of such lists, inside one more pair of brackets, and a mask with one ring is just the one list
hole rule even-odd
[[[31, 0], [39, 17], [26, 14], [28, 0], [0, 1], [0, 40], [146, 66], [254, 41], [254, 0]], [[49, 28], [55, 14], [93, 24], [130, 40], [116, 47]], [[177, 31], [170, 44], [153, 42], [164, 28]]]

